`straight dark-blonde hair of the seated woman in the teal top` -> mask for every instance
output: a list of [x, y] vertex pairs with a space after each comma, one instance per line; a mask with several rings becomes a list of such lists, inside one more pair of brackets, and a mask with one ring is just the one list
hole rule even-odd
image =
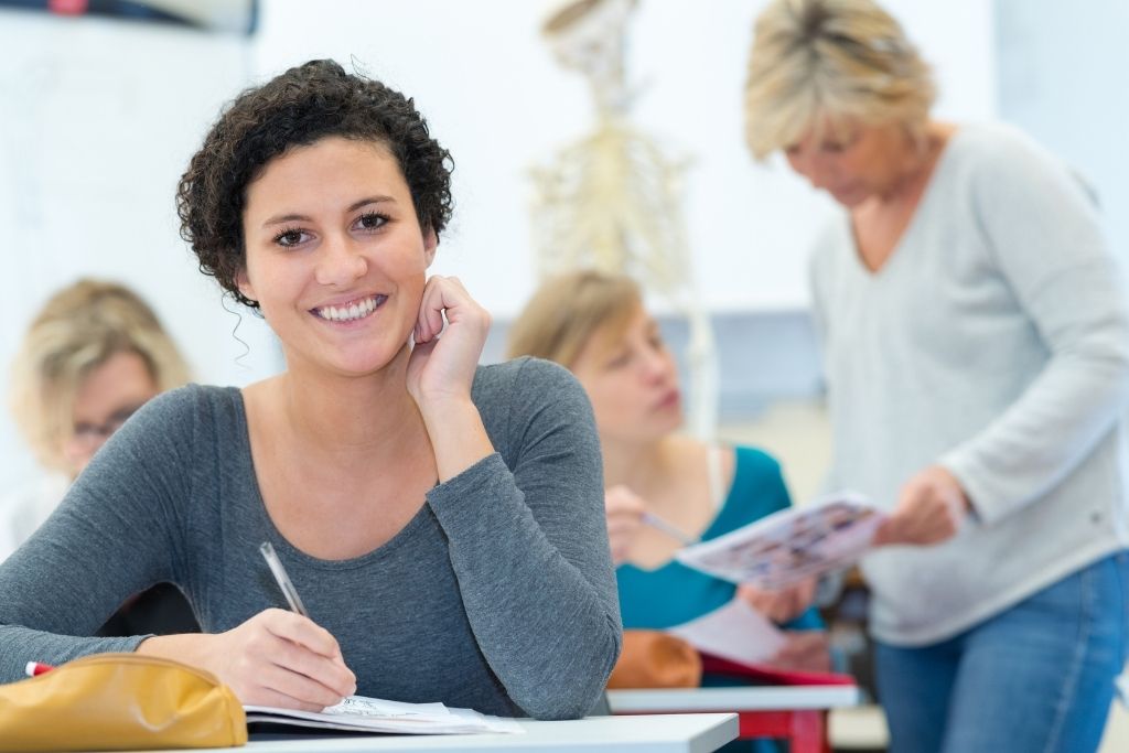
[[551, 278], [515, 318], [508, 357], [534, 356], [571, 369], [594, 338], [622, 335], [641, 306], [639, 286], [622, 274], [580, 271]]

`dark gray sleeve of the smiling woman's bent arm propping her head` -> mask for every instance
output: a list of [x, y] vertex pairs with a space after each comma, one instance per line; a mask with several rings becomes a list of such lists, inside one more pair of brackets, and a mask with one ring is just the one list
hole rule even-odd
[[[475, 639], [509, 697], [542, 719], [584, 716], [619, 656], [621, 624], [592, 408], [564, 369], [533, 359], [478, 401], [491, 455], [428, 504]], [[508, 465], [507, 465], [508, 463]]]

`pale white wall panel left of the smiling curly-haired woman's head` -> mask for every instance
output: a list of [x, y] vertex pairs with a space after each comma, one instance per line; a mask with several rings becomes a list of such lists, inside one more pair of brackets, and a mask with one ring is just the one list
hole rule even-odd
[[[247, 43], [166, 26], [0, 11], [0, 389], [44, 299], [80, 275], [157, 309], [199, 378], [239, 384], [273, 361], [262, 323], [224, 310], [177, 236], [176, 182]], [[250, 319], [250, 321], [248, 321]], [[256, 326], [257, 325], [257, 326]], [[7, 401], [3, 402], [7, 406]], [[0, 491], [33, 463], [0, 410]]]

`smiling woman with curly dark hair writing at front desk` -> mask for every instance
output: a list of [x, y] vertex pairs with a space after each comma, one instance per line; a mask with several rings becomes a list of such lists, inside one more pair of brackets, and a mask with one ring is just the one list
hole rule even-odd
[[[478, 367], [490, 316], [428, 275], [450, 167], [411, 99], [333, 61], [225, 108], [181, 181], [182, 235], [287, 368], [167, 393], [111, 438], [0, 564], [0, 682], [137, 650], [252, 704], [593, 708], [621, 637], [590, 409], [555, 366]], [[272, 608], [263, 542], [308, 618]], [[160, 580], [204, 634], [84, 637]]]

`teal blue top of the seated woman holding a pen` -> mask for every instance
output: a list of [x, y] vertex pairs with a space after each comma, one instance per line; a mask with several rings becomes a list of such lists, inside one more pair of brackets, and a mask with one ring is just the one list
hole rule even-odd
[[[738, 446], [736, 454], [733, 485], [702, 541], [717, 539], [791, 505], [780, 464], [774, 458], [752, 447]], [[724, 606], [737, 590], [732, 583], [674, 560], [655, 570], [621, 564], [615, 578], [624, 628], [673, 628]], [[815, 610], [809, 608], [785, 627], [819, 630], [823, 623]]]

